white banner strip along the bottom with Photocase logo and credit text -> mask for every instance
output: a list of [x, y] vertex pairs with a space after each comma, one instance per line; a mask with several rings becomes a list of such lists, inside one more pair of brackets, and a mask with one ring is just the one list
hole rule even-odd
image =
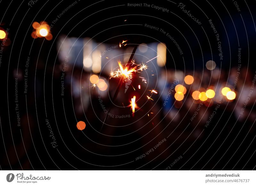
[[243, 185], [255, 171], [0, 171], [0, 185]]

